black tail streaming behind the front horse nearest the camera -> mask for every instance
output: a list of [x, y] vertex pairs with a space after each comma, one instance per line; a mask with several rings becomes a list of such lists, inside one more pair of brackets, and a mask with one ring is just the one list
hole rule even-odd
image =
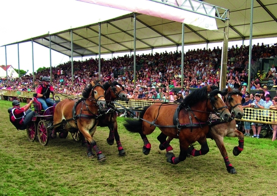
[[145, 106], [143, 108], [143, 110], [140, 112], [139, 120], [127, 118], [127, 119], [125, 119], [123, 126], [130, 132], [133, 132], [133, 133], [141, 132], [142, 122], [143, 122], [141, 119], [143, 119], [144, 113], [148, 109], [149, 106]]

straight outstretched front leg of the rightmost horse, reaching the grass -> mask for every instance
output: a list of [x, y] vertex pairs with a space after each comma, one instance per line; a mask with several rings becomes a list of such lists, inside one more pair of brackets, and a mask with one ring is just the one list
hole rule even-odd
[[[243, 134], [242, 134], [242, 136], [243, 136]], [[235, 168], [232, 166], [232, 164], [229, 161], [228, 153], [227, 153], [227, 150], [226, 150], [226, 148], [224, 146], [224, 142], [223, 142], [223, 136], [213, 135], [213, 139], [215, 140], [216, 145], [219, 148], [221, 155], [223, 156], [227, 171], [231, 174], [236, 174]]]

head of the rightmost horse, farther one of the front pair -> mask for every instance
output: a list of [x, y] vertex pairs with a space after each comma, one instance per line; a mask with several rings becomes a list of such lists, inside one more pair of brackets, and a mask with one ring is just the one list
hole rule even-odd
[[226, 105], [228, 106], [229, 111], [231, 112], [234, 118], [242, 118], [244, 115], [242, 104], [245, 99], [242, 98], [242, 94], [238, 89], [231, 89], [228, 87], [223, 91], [225, 98], [226, 98]]

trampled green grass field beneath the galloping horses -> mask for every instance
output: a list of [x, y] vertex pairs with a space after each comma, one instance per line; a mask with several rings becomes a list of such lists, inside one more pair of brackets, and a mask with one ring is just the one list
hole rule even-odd
[[[10, 101], [0, 100], [0, 196], [273, 196], [277, 194], [277, 141], [245, 138], [244, 150], [232, 155], [237, 138], [225, 138], [229, 159], [237, 174], [227, 172], [223, 157], [212, 140], [210, 152], [188, 157], [172, 165], [166, 162], [156, 137], [148, 136], [150, 154], [142, 153], [139, 134], [132, 134], [118, 118], [121, 142], [126, 150], [119, 157], [116, 145], [106, 143], [108, 128], [97, 127], [94, 139], [106, 155], [99, 163], [86, 155], [86, 147], [67, 139], [50, 140], [46, 147], [30, 142], [26, 131], [9, 122]], [[172, 143], [179, 154], [179, 141]], [[199, 145], [196, 145], [199, 149]]]

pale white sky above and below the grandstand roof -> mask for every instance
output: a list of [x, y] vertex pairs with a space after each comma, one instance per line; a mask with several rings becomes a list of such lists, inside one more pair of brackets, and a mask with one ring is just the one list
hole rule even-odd
[[[85, 6], [84, 6], [85, 5]], [[95, 8], [95, 6], [97, 6]], [[119, 10], [114, 11], [107, 10], [105, 7], [105, 16], [99, 14], [99, 17], [105, 18], [91, 18], [90, 13], [101, 12], [101, 6], [91, 3], [85, 3], [77, 0], [0, 0], [0, 46], [5, 44], [15, 43], [32, 37], [45, 35], [49, 33], [56, 33], [62, 30], [67, 30], [75, 27], [85, 26], [93, 24], [100, 20], [105, 20], [110, 17], [116, 17], [128, 13], [128, 11]], [[9, 17], [12, 13], [16, 13], [16, 17]], [[74, 13], [74, 17], [70, 17], [70, 14]], [[4, 18], [4, 19], [3, 19]], [[32, 22], [30, 22], [32, 21]], [[252, 44], [264, 43], [275, 44], [277, 38], [271, 39], [259, 39], [253, 40]], [[221, 43], [210, 43], [208, 48], [222, 47]], [[232, 45], [242, 45], [242, 41], [229, 42], [229, 47]], [[244, 45], [249, 45], [249, 40], [244, 41]], [[188, 49], [207, 49], [206, 44], [185, 46], [185, 51]], [[176, 51], [176, 47], [167, 49], [154, 49], [153, 52], [162, 52], [167, 50]], [[181, 47], [178, 48], [181, 50]], [[49, 67], [49, 49], [34, 43], [34, 70], [36, 71], [40, 67]], [[151, 53], [151, 50], [137, 51], [137, 54]], [[123, 56], [125, 54], [132, 54], [130, 52], [116, 53], [116, 56]], [[32, 44], [26, 42], [19, 44], [19, 60], [18, 60], [18, 45], [6, 46], [7, 65], [12, 65], [14, 68], [19, 68], [29, 72], [33, 71], [32, 62]], [[111, 55], [101, 54], [101, 58], [111, 58]], [[86, 60], [90, 56], [77, 58], [74, 60]], [[95, 58], [95, 56], [93, 56]], [[60, 63], [68, 62], [70, 58], [59, 52], [51, 51], [51, 65], [57, 66]], [[5, 65], [5, 48], [0, 47], [0, 65]]]

